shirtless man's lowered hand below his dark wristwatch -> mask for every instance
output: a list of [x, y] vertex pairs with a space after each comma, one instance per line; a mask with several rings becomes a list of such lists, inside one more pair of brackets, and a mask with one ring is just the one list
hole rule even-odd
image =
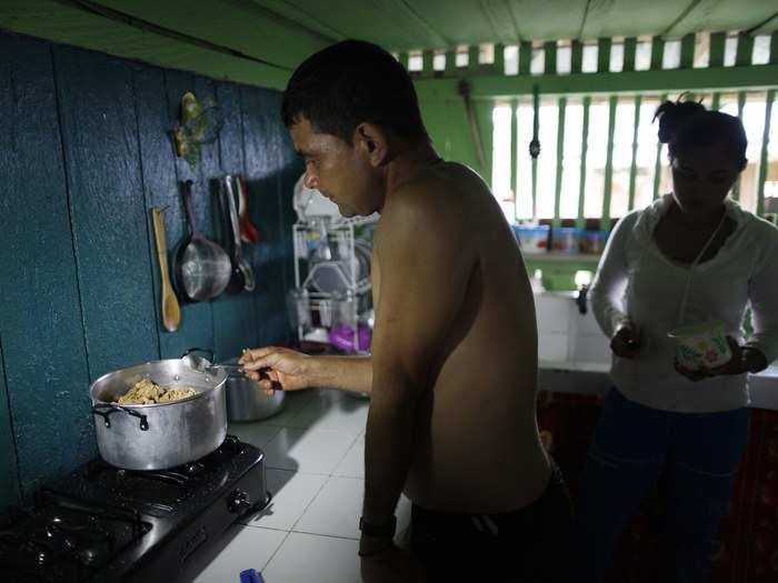
[[423, 583], [421, 565], [388, 539], [362, 535], [360, 571], [365, 583]]

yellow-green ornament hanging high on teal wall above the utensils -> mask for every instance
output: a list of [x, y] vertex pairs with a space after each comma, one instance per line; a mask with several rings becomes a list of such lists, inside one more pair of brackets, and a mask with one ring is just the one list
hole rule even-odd
[[223, 124], [221, 109], [213, 101], [203, 107], [194, 93], [184, 93], [181, 98], [181, 117], [172, 131], [177, 155], [194, 169], [200, 161], [200, 148], [215, 142]]

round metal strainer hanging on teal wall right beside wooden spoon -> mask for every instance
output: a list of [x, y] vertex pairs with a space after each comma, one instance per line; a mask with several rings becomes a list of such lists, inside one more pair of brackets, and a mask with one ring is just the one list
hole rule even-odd
[[183, 183], [181, 197], [189, 221], [189, 235], [176, 253], [176, 289], [189, 302], [220, 295], [230, 282], [230, 258], [218, 244], [197, 230], [191, 203], [192, 181]]

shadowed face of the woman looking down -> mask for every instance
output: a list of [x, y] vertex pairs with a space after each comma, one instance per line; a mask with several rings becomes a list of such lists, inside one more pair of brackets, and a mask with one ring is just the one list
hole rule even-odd
[[671, 160], [676, 202], [691, 215], [709, 214], [735, 184], [739, 165], [720, 142], [679, 153]]

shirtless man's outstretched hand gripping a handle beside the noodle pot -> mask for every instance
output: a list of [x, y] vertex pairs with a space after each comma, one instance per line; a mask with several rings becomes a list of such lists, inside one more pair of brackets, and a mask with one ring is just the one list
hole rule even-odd
[[247, 376], [271, 395], [275, 390], [298, 391], [311, 385], [312, 359], [289, 349], [267, 346], [243, 350], [240, 356]]

